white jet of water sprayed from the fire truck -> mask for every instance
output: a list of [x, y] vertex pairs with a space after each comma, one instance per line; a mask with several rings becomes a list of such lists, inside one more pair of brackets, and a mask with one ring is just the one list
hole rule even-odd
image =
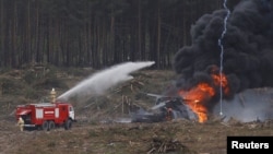
[[102, 95], [111, 86], [118, 83], [131, 80], [131, 72], [151, 67], [153, 61], [147, 62], [124, 62], [99, 71], [78, 85], [60, 95], [57, 99], [68, 100], [71, 97], [80, 97], [82, 99], [91, 98], [95, 95]]

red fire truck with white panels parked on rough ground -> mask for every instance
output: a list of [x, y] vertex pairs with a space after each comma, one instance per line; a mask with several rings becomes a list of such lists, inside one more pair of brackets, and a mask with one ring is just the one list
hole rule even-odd
[[68, 130], [75, 121], [73, 106], [64, 102], [19, 105], [15, 117], [16, 119], [23, 118], [25, 128], [38, 128], [46, 131], [56, 127], [64, 127]]

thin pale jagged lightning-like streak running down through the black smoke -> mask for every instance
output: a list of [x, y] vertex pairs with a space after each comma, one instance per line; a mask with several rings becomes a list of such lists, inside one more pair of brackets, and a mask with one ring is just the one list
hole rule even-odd
[[[230, 11], [229, 9], [227, 8], [226, 5], [227, 3], [227, 0], [224, 0], [224, 8], [227, 12], [226, 16], [225, 16], [225, 20], [224, 20], [224, 31], [222, 32], [222, 35], [218, 39], [218, 46], [221, 47], [221, 55], [219, 55], [219, 80], [223, 81], [223, 59], [224, 59], [224, 46], [222, 44], [222, 40], [224, 39], [225, 37], [225, 34], [226, 34], [226, 31], [227, 31], [227, 20], [230, 15]], [[223, 83], [221, 82], [219, 83], [219, 115], [222, 116], [223, 115], [223, 110], [222, 110], [222, 100], [223, 100]]]

